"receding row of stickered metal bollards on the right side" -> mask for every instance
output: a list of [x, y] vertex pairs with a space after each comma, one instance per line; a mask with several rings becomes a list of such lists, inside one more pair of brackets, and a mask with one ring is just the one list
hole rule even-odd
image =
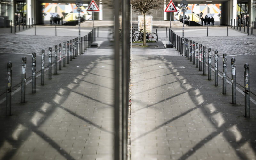
[[[173, 32], [171, 30], [171, 32]], [[182, 38], [175, 38], [175, 33], [172, 33], [172, 37], [170, 37], [173, 45], [179, 46], [178, 41], [182, 42]], [[177, 42], [176, 42], [177, 41]], [[195, 46], [196, 44], [196, 46]], [[196, 50], [195, 50], [196, 48]], [[176, 49], [177, 50], [177, 49]], [[189, 40], [188, 38], [184, 38], [184, 52], [182, 43], [180, 43], [178, 52], [182, 54], [182, 56], [186, 56], [187, 59], [192, 62], [192, 64], [196, 64], [196, 68], [198, 68], [198, 60], [199, 60], [199, 71], [202, 71], [202, 63], [203, 63], [203, 75], [206, 75], [206, 47], [203, 46], [203, 60], [202, 60], [202, 44], [199, 44], [195, 41]], [[199, 52], [199, 53], [198, 53]], [[231, 83], [232, 83], [232, 104], [236, 104], [236, 63], [235, 58], [231, 59]], [[244, 85], [245, 85], [245, 117], [250, 118], [250, 88], [249, 88], [249, 64], [244, 65]], [[223, 54], [223, 85], [222, 85], [222, 94], [226, 95], [226, 82], [227, 82], [227, 55]], [[212, 79], [212, 49], [208, 48], [208, 80]], [[214, 86], [218, 86], [218, 51], [214, 51]]]

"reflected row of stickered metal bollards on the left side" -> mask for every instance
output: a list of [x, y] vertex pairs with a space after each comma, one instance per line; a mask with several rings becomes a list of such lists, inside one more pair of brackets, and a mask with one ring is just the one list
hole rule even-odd
[[[92, 32], [84, 36], [84, 52], [87, 50], [92, 42]], [[89, 39], [90, 38], [90, 39]], [[80, 43], [78, 43], [78, 37], [75, 39], [70, 39], [70, 41], [63, 42], [59, 44], [59, 70], [61, 70], [62, 61], [63, 67], [66, 67], [66, 62], [75, 59], [76, 56], [83, 54], [83, 39], [81, 37]], [[66, 46], [67, 44], [67, 46]], [[78, 48], [80, 46], [80, 48]], [[63, 51], [63, 53], [62, 53]], [[55, 45], [54, 50], [54, 74], [58, 74], [58, 45]], [[48, 62], [48, 79], [52, 79], [52, 47], [49, 47], [49, 62]], [[22, 57], [22, 75], [21, 75], [21, 103], [25, 103], [25, 93], [26, 93], [26, 63], [27, 57]], [[41, 85], [44, 85], [44, 69], [45, 69], [45, 51], [42, 50], [41, 54]], [[6, 116], [11, 116], [11, 93], [12, 93], [12, 62], [7, 63], [7, 92], [6, 92]], [[36, 53], [32, 53], [32, 93], [36, 93]]]

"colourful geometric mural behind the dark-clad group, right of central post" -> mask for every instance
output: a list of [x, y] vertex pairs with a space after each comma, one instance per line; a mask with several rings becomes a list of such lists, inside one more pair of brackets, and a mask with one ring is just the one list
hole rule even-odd
[[[174, 12], [174, 20], [180, 20], [180, 17], [183, 16], [181, 12], [180, 4], [178, 4], [178, 12]], [[187, 12], [185, 15], [190, 17], [191, 21], [200, 21], [200, 18], [203, 18], [207, 15], [208, 17], [213, 17], [214, 21], [220, 21], [221, 17], [221, 4], [188, 4]]]

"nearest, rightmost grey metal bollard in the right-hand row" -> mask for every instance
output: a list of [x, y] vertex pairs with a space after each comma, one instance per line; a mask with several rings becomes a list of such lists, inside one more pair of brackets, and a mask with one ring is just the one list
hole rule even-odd
[[250, 81], [249, 64], [244, 64], [244, 88], [245, 88], [245, 117], [250, 118]]

